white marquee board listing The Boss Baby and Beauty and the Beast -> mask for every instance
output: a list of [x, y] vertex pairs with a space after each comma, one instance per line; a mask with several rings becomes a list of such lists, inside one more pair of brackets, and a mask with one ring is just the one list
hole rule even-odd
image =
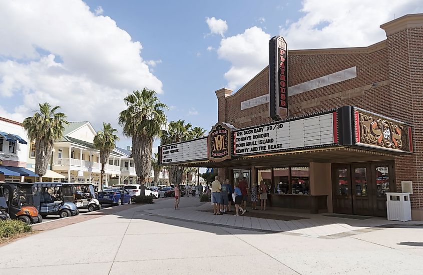
[[271, 123], [233, 132], [233, 156], [335, 143], [334, 113]]

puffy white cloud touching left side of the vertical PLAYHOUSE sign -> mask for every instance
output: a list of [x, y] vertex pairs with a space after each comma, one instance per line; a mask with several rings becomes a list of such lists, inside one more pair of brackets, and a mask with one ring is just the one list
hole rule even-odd
[[232, 63], [225, 73], [229, 89], [247, 83], [268, 64], [270, 35], [261, 28], [252, 27], [243, 34], [222, 39], [217, 50], [220, 59]]

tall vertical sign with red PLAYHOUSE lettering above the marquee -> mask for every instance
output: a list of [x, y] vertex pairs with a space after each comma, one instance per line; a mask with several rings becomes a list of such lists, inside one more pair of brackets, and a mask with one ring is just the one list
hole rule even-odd
[[270, 117], [273, 120], [288, 116], [287, 46], [281, 36], [269, 41]]

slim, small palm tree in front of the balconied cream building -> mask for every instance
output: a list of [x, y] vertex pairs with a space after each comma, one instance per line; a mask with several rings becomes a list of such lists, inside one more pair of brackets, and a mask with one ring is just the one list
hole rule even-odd
[[94, 137], [94, 147], [100, 150], [100, 163], [101, 163], [101, 175], [99, 190], [102, 189], [103, 178], [104, 178], [104, 167], [109, 162], [110, 153], [116, 148], [116, 141], [119, 137], [115, 135], [118, 130], [112, 128], [110, 123], [103, 122], [103, 131], [98, 131]]

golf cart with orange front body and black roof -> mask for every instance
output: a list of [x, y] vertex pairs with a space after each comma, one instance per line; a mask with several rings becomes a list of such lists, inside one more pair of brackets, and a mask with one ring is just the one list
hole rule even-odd
[[43, 221], [34, 205], [31, 183], [4, 182], [0, 183], [0, 185], [0, 189], [2, 189], [0, 197], [3, 197], [6, 201], [7, 212], [11, 218], [19, 219], [27, 224]]

